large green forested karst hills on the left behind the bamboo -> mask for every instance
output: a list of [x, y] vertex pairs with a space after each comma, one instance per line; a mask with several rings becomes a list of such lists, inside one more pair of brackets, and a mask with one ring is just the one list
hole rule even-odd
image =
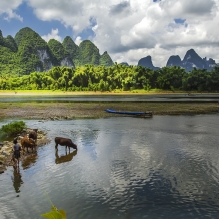
[[114, 65], [106, 53], [89, 40], [79, 46], [66, 36], [62, 43], [51, 39], [48, 43], [29, 27], [20, 29], [15, 37], [3, 37], [0, 30], [0, 76], [22, 76], [31, 72], [45, 72], [53, 66]]

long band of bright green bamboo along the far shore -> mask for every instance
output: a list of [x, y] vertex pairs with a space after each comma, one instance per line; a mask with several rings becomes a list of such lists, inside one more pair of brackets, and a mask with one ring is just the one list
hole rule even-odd
[[115, 63], [111, 67], [85, 65], [53, 67], [48, 72], [32, 72], [20, 77], [2, 76], [1, 90], [131, 91], [135, 89], [219, 91], [219, 67], [212, 71], [181, 67], [152, 70], [142, 66]]

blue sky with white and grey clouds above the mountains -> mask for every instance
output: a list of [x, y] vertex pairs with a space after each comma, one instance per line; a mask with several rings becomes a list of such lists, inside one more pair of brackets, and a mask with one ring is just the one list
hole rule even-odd
[[118, 63], [150, 55], [162, 67], [191, 48], [219, 63], [219, 0], [1, 0], [3, 36], [23, 27], [46, 41], [89, 39]]

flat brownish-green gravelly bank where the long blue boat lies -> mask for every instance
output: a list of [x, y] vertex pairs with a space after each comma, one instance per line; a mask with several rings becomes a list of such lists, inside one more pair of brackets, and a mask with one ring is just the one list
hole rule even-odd
[[1, 103], [0, 118], [27, 119], [76, 119], [118, 116], [105, 109], [121, 111], [153, 111], [154, 115], [193, 115], [218, 113], [217, 103], [132, 103], [132, 102], [83, 102], [83, 103]]

